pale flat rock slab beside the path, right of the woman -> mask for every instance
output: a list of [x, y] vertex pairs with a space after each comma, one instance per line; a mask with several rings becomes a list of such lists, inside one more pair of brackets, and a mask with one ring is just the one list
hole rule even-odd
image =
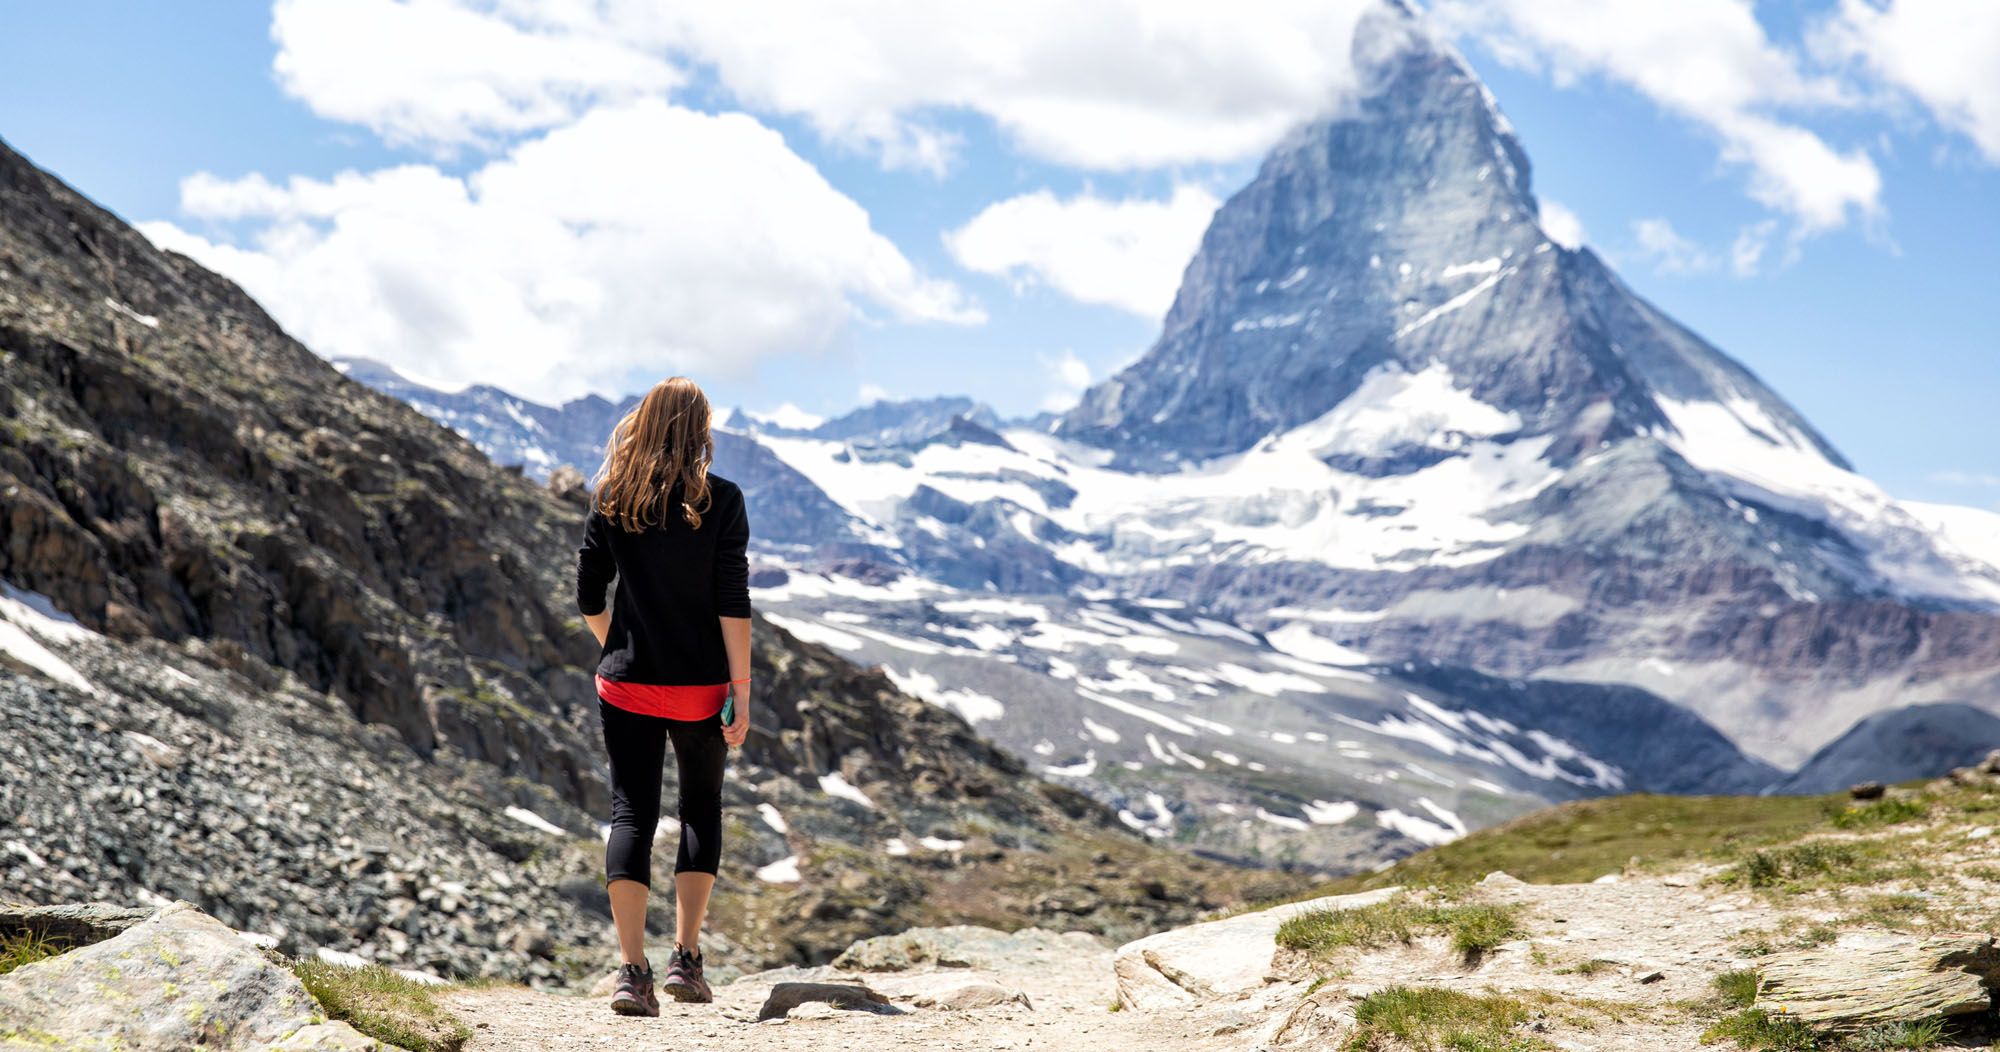
[[1112, 958], [1118, 1004], [1184, 1008], [1264, 986], [1278, 950], [1278, 926], [1314, 910], [1356, 910], [1396, 896], [1398, 888], [1290, 902], [1254, 914], [1208, 920], [1126, 942]]

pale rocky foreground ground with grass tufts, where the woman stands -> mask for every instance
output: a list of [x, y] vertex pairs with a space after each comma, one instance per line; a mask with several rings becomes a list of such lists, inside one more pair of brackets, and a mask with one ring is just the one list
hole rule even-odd
[[[1680, 798], [1664, 822], [1656, 804], [1552, 808], [1374, 874], [1374, 890], [1334, 886], [1116, 948], [1086, 932], [918, 928], [822, 966], [740, 976], [712, 1006], [668, 1004], [644, 1020], [606, 1010], [608, 980], [592, 996], [486, 984], [422, 998], [468, 1024], [470, 1052], [634, 1038], [740, 1052], [1872, 1052], [2000, 1036], [2000, 754], [1872, 802], [1794, 800], [1754, 838], [1736, 818], [1754, 800]], [[1630, 850], [1616, 862], [1606, 818]], [[1580, 856], [1602, 868], [1588, 870], [1594, 880], [1552, 878]], [[1474, 878], [1468, 866], [1486, 858], [1510, 858], [1524, 876]], [[10, 922], [0, 908], [0, 936]], [[282, 970], [184, 906], [90, 938], [104, 942], [66, 954], [70, 964], [0, 976], [0, 1042], [102, 1028], [102, 998], [62, 994], [116, 988], [130, 996], [116, 1024], [132, 1036], [140, 1022], [178, 1036], [196, 1020], [216, 1046], [252, 1046], [258, 1028], [282, 1022], [354, 1046], [344, 1022], [300, 1012]], [[132, 958], [142, 972], [108, 968]], [[214, 1004], [190, 996], [196, 984], [162, 982], [224, 966], [256, 982]], [[216, 1026], [234, 1020], [240, 1034]], [[382, 1014], [354, 1022], [384, 1032]]]

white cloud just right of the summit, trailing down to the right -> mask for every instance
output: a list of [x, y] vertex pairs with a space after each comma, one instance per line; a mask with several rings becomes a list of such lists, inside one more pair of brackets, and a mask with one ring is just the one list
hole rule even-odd
[[1772, 44], [1750, 0], [1440, 0], [1432, 16], [1556, 84], [1604, 76], [1706, 126], [1722, 158], [1750, 170], [1750, 196], [1794, 216], [1802, 232], [1880, 208], [1882, 176], [1864, 150], [1842, 154], [1770, 116], [1852, 100]]

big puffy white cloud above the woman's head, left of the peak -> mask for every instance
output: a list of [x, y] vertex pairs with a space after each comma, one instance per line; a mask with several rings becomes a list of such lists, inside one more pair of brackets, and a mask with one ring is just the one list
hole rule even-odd
[[592, 110], [466, 178], [194, 176], [216, 240], [142, 224], [242, 282], [322, 354], [538, 398], [668, 372], [742, 376], [858, 318], [980, 322], [770, 128], [660, 100]]

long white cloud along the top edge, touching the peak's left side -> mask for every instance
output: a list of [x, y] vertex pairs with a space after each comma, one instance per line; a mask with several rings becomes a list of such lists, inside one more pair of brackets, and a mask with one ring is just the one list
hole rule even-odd
[[1360, 86], [1354, 26], [1380, 0], [278, 0], [288, 92], [394, 140], [462, 144], [560, 124], [702, 66], [884, 164], [932, 172], [946, 114], [1086, 168], [1262, 154]]

